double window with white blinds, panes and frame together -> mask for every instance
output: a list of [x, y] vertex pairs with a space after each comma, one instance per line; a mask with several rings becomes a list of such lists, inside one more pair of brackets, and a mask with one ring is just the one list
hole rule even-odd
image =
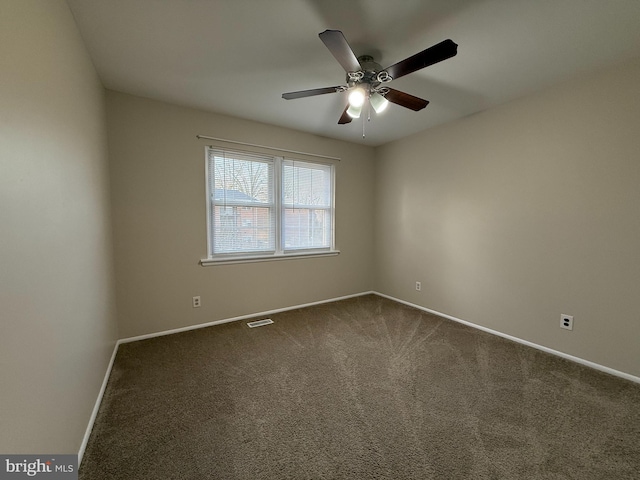
[[333, 165], [209, 147], [209, 259], [334, 253], [333, 189]]

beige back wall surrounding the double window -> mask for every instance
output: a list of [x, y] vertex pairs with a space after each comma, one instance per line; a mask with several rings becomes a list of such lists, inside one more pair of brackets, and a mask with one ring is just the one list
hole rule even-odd
[[[120, 337], [321, 301], [373, 287], [373, 149], [116, 92], [107, 94]], [[205, 140], [341, 157], [338, 256], [202, 267]], [[245, 147], [247, 148], [247, 147]], [[201, 308], [191, 298], [200, 295]]]

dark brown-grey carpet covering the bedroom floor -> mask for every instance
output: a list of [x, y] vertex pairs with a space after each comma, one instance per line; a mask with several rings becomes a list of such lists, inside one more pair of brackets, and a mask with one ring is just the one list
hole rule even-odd
[[640, 385], [368, 295], [121, 345], [80, 479], [638, 479]]

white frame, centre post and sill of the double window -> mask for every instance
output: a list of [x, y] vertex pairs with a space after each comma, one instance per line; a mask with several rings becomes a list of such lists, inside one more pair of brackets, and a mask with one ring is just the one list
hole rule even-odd
[[[274, 249], [268, 253], [263, 251], [246, 251], [246, 252], [231, 252], [231, 253], [214, 253], [214, 223], [212, 217], [212, 210], [215, 207], [215, 201], [212, 197], [215, 189], [215, 179], [210, 179], [212, 170], [210, 169], [210, 156], [211, 151], [224, 152], [226, 155], [233, 156], [237, 154], [241, 157], [256, 156], [262, 157], [262, 159], [269, 159], [273, 164], [273, 200], [274, 200]], [[329, 169], [329, 181], [330, 181], [330, 195], [329, 195], [329, 207], [319, 206], [319, 210], [328, 211], [330, 215], [330, 238], [329, 246], [323, 247], [311, 247], [311, 248], [285, 248], [284, 245], [284, 228], [285, 228], [285, 202], [283, 193], [284, 183], [284, 165], [291, 163], [301, 164], [316, 164], [322, 167], [328, 167]], [[205, 192], [206, 192], [206, 235], [207, 235], [207, 258], [200, 260], [201, 265], [219, 265], [230, 263], [247, 263], [247, 262], [264, 262], [273, 260], [287, 260], [294, 258], [309, 258], [318, 256], [332, 256], [338, 255], [340, 251], [335, 245], [335, 192], [336, 192], [336, 166], [332, 162], [319, 162], [315, 160], [303, 160], [300, 158], [294, 158], [291, 156], [275, 155], [271, 153], [262, 152], [247, 152], [240, 149], [227, 149], [217, 146], [205, 147]], [[288, 204], [287, 204], [288, 205]]]

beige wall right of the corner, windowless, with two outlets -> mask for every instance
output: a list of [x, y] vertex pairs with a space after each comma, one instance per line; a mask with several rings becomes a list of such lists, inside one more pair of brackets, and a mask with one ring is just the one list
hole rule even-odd
[[380, 148], [376, 289], [640, 376], [638, 85], [636, 62]]

